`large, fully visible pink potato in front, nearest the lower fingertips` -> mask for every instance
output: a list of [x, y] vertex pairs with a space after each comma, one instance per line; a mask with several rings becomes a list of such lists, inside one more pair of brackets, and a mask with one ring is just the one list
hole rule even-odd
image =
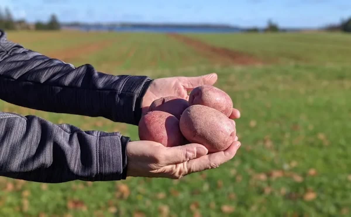
[[185, 109], [179, 126], [188, 141], [204, 145], [210, 153], [224, 151], [236, 137], [233, 120], [220, 111], [203, 105]]

